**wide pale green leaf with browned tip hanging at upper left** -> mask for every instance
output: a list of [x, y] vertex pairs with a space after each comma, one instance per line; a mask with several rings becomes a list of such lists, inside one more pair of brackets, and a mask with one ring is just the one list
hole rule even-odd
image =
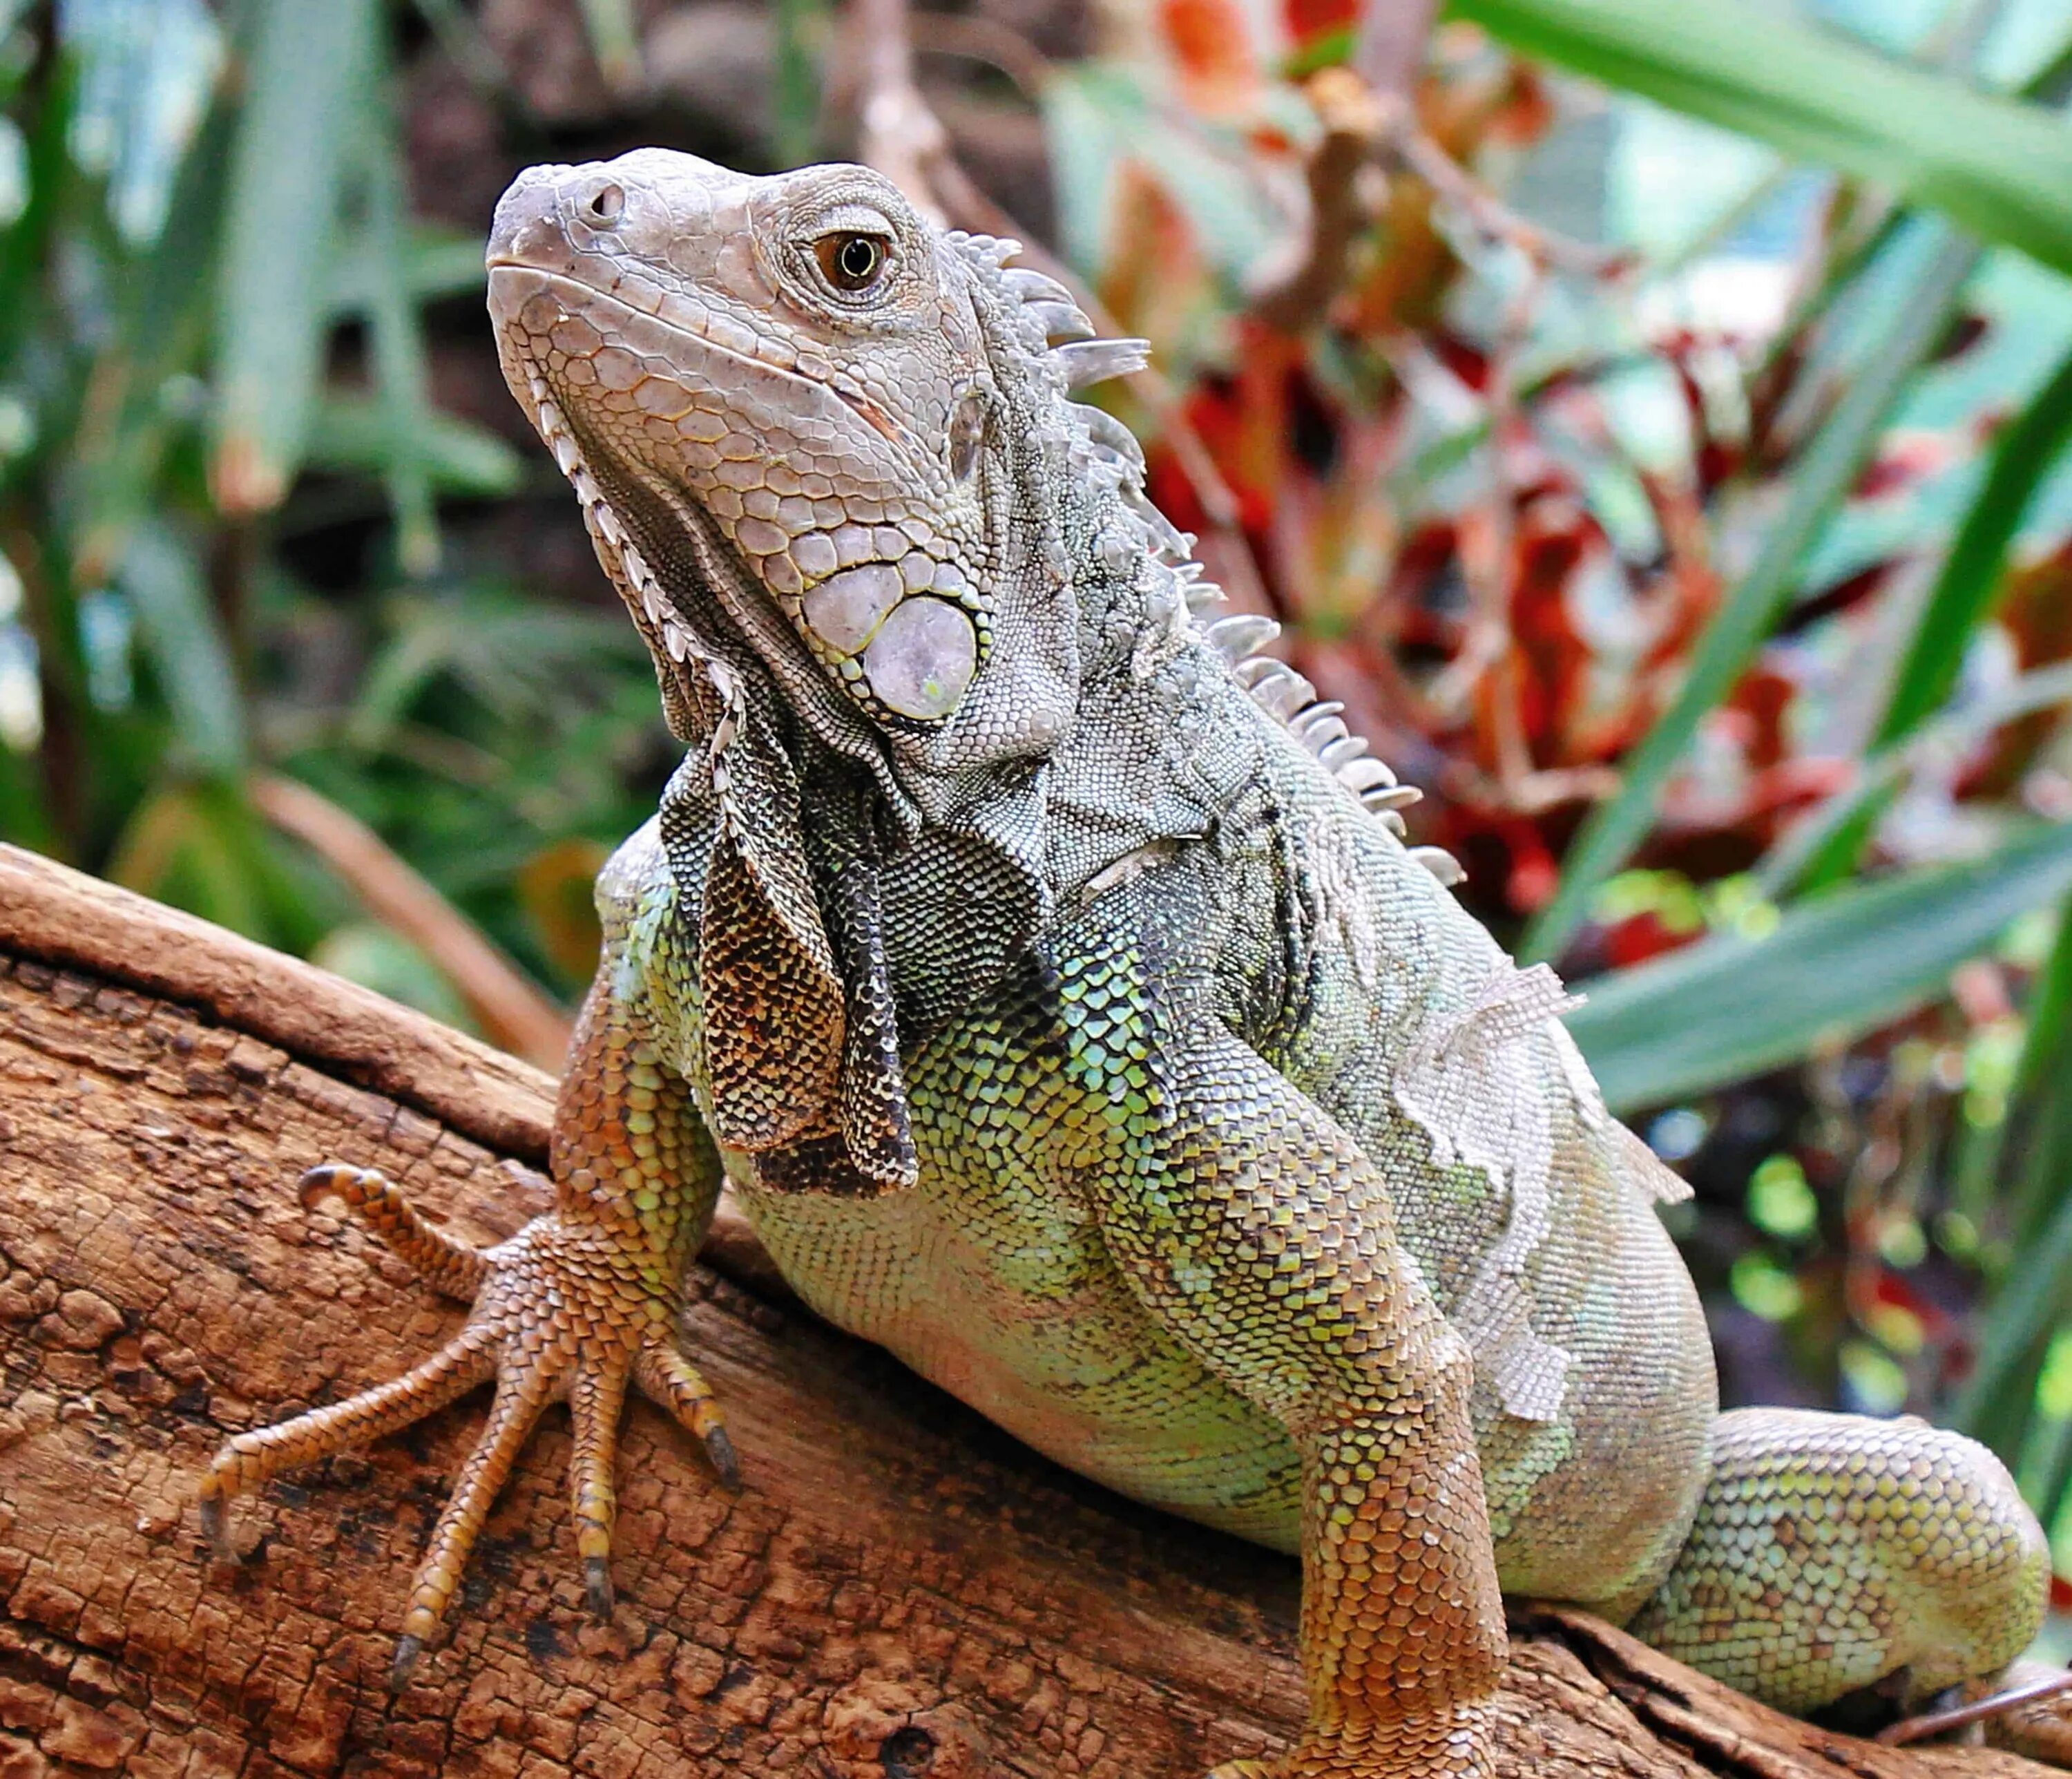
[[230, 214], [215, 282], [218, 435], [226, 512], [278, 506], [303, 458], [329, 336], [329, 265], [375, 0], [259, 0]]

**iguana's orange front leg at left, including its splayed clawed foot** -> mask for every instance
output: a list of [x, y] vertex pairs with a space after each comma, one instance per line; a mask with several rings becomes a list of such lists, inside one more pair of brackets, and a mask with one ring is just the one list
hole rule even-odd
[[584, 1001], [555, 1105], [557, 1207], [477, 1252], [427, 1225], [379, 1174], [327, 1165], [305, 1201], [344, 1198], [396, 1254], [450, 1296], [468, 1325], [394, 1383], [228, 1441], [201, 1480], [203, 1528], [230, 1555], [226, 1505], [265, 1478], [423, 1420], [495, 1379], [489, 1424], [433, 1528], [396, 1646], [400, 1686], [445, 1619], [468, 1553], [549, 1402], [574, 1420], [570, 1495], [591, 1609], [611, 1609], [613, 1464], [628, 1385], [704, 1443], [721, 1476], [733, 1453], [713, 1393], [678, 1348], [684, 1267], [719, 1198], [719, 1157], [690, 1089], [667, 1074], [640, 1004], [613, 997], [605, 960]]

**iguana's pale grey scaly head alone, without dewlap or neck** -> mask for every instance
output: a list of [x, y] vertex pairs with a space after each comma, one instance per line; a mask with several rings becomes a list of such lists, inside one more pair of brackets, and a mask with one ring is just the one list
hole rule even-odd
[[[750, 178], [640, 149], [503, 195], [503, 369], [671, 705], [752, 659], [920, 804], [1065, 732], [1073, 375], [1048, 340], [1092, 330], [1009, 251], [858, 166]], [[1082, 379], [1142, 348], [1096, 350]]]

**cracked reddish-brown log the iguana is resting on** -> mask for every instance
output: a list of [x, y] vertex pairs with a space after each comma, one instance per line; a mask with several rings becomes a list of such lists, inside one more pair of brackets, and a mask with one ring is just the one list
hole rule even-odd
[[[1295, 1570], [1044, 1464], [754, 1286], [733, 1223], [688, 1308], [748, 1476], [636, 1408], [620, 1609], [570, 1559], [566, 1422], [400, 1698], [390, 1626], [479, 1416], [435, 1416], [242, 1514], [215, 1443], [400, 1371], [460, 1312], [300, 1167], [379, 1165], [472, 1238], [537, 1186], [551, 1082], [199, 921], [0, 848], [0, 1779], [742, 1775], [1164, 1779], [1299, 1713]], [[1581, 1615], [1523, 1623], [1502, 1769], [1560, 1779], [2041, 1775], [1740, 1700]]]

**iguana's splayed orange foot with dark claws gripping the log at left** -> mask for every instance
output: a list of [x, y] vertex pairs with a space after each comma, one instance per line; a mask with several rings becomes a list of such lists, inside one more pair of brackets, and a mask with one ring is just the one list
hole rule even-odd
[[234, 1559], [226, 1505], [298, 1464], [313, 1464], [423, 1420], [495, 1379], [489, 1424], [462, 1464], [431, 1532], [396, 1644], [400, 1688], [439, 1630], [489, 1507], [539, 1412], [566, 1397], [574, 1418], [570, 1491], [576, 1553], [591, 1611], [611, 1613], [613, 1462], [626, 1387], [667, 1408], [736, 1482], [733, 1445], [713, 1391], [678, 1350], [675, 1288], [642, 1263], [638, 1232], [609, 1217], [555, 1211], [495, 1248], [470, 1248], [427, 1223], [379, 1174], [325, 1165], [303, 1176], [303, 1203], [336, 1196], [400, 1259], [454, 1298], [474, 1300], [468, 1325], [392, 1383], [230, 1439], [201, 1478], [201, 1526]]

